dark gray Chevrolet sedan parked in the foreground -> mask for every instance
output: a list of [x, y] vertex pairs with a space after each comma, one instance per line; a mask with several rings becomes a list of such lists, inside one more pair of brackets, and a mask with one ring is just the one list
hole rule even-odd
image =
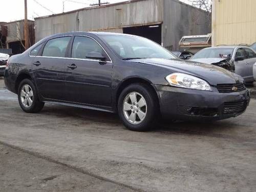
[[149, 129], [159, 117], [236, 117], [250, 100], [241, 76], [181, 60], [146, 38], [117, 33], [46, 37], [10, 57], [5, 83], [25, 112], [39, 112], [45, 102], [117, 112], [134, 131]]

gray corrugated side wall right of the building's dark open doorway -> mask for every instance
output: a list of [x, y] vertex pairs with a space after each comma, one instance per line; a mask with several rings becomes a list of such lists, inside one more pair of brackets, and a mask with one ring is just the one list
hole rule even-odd
[[184, 35], [210, 33], [209, 13], [179, 1], [163, 0], [162, 42], [167, 49], [179, 50], [179, 41]]

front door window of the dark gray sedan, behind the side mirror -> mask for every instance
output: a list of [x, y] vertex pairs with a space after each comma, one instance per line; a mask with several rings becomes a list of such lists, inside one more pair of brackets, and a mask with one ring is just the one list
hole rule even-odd
[[[105, 51], [100, 47], [100, 45], [90, 37], [76, 36], [74, 38], [72, 46], [72, 58], [86, 59], [87, 54], [90, 52], [98, 52], [103, 56], [106, 56]], [[109, 60], [109, 59], [108, 59]]]

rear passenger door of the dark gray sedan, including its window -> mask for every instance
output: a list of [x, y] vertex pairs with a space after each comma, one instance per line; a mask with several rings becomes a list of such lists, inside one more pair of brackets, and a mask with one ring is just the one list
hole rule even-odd
[[32, 71], [36, 86], [44, 98], [64, 99], [66, 55], [70, 40], [71, 36], [48, 40], [41, 53], [34, 58]]

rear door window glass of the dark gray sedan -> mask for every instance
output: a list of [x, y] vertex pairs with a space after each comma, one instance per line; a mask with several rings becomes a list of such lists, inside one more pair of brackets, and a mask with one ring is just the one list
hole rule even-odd
[[65, 57], [66, 50], [71, 37], [58, 37], [49, 40], [42, 52], [42, 56]]

